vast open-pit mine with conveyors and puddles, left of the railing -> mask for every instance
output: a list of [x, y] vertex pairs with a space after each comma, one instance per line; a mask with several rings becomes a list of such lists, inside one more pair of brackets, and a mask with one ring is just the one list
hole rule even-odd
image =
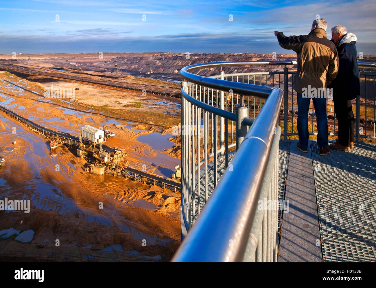
[[0, 201], [2, 261], [171, 260], [181, 236], [178, 72], [273, 56], [0, 55], [0, 200], [30, 203], [26, 213]]

